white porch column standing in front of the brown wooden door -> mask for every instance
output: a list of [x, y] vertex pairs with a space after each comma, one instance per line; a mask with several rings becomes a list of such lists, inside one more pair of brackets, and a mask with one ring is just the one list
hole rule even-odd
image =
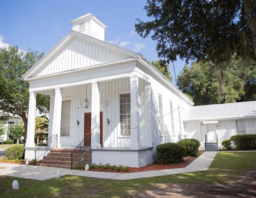
[[100, 97], [99, 97], [99, 83], [92, 82], [92, 98], [91, 98], [91, 149], [100, 147]]

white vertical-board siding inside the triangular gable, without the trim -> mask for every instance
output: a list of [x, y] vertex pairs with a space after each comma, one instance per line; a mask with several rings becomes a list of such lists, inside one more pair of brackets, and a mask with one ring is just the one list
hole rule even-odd
[[75, 37], [46, 63], [33, 77], [90, 67], [107, 62], [125, 60], [130, 56], [112, 52]]

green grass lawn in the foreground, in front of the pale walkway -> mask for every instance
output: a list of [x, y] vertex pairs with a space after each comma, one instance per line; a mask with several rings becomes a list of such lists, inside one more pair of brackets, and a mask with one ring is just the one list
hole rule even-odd
[[[218, 153], [207, 171], [115, 181], [66, 175], [45, 181], [0, 176], [2, 197], [129, 197], [145, 190], [160, 190], [166, 185], [225, 185], [238, 179], [242, 172], [256, 169], [256, 152]], [[47, 174], [47, 173], [45, 173]], [[12, 190], [12, 181], [20, 183]]]

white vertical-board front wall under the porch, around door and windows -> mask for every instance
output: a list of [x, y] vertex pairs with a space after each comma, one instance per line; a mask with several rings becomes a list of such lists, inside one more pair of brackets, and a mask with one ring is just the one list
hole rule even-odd
[[[129, 147], [130, 137], [121, 137], [119, 134], [119, 94], [127, 91], [130, 92], [130, 79], [119, 79], [107, 82], [101, 82], [99, 85], [100, 101], [107, 103], [107, 105], [100, 105], [100, 111], [103, 111], [103, 146], [104, 147]], [[143, 101], [144, 85], [139, 81], [139, 101]], [[60, 137], [61, 146], [77, 146], [78, 143], [84, 138], [84, 112], [91, 112], [91, 109], [84, 109], [80, 107], [85, 98], [90, 103], [93, 100], [91, 97], [91, 84], [84, 84], [82, 86], [64, 88], [62, 90], [63, 100], [65, 98], [71, 99], [71, 122], [70, 122], [70, 136]], [[149, 119], [147, 116], [150, 112], [149, 107], [145, 107], [147, 103], [140, 102], [140, 136], [142, 139], [142, 146], [149, 146], [145, 137], [151, 134], [151, 131], [146, 130], [147, 123], [144, 118]], [[147, 109], [147, 110], [145, 110]], [[147, 115], [145, 115], [147, 114]], [[106, 119], [109, 118], [110, 123], [107, 125]], [[79, 121], [79, 125], [77, 125]]]

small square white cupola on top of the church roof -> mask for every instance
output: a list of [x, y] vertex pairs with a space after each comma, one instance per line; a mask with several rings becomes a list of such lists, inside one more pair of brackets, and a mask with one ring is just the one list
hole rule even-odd
[[105, 40], [105, 28], [107, 26], [91, 13], [87, 13], [84, 16], [74, 19], [70, 23], [73, 25], [73, 31], [81, 32], [100, 40]]

